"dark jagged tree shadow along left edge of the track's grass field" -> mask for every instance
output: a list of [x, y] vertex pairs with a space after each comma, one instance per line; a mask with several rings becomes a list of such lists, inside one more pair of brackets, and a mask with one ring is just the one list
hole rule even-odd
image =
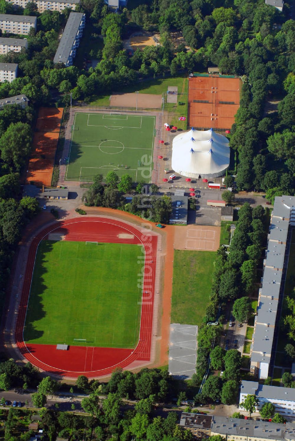
[[36, 340], [44, 335], [44, 331], [37, 330], [35, 323], [46, 316], [43, 307], [42, 298], [47, 286], [44, 283], [45, 255], [53, 249], [54, 241], [42, 240], [38, 246], [32, 283], [30, 288], [30, 297], [26, 311], [26, 321], [24, 326], [24, 341]]

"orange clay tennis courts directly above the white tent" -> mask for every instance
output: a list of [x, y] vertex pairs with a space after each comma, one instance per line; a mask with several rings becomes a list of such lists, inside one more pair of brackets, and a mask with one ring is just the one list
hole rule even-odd
[[[188, 126], [230, 129], [235, 122], [235, 114], [239, 108], [240, 86], [239, 78], [217, 76], [189, 78]], [[224, 102], [231, 104], [224, 104]]]

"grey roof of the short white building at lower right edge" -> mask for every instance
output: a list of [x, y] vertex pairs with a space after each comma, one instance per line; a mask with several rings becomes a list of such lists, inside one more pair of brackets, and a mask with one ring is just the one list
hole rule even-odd
[[242, 381], [241, 393], [256, 395], [260, 399], [295, 401], [295, 389], [260, 385], [258, 381]]

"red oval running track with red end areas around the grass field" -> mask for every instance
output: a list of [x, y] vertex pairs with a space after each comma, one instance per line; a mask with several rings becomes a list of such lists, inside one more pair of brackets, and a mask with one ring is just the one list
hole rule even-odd
[[[56, 350], [56, 345], [28, 344], [23, 341], [31, 280], [38, 244], [48, 234], [61, 233], [65, 240], [105, 243], [142, 243], [145, 249], [142, 312], [139, 341], [134, 349], [93, 348], [70, 346], [68, 351]], [[146, 235], [145, 235], [146, 234]], [[157, 236], [141, 233], [124, 222], [111, 218], [88, 217], [62, 221], [40, 232], [30, 246], [22, 297], [19, 305], [15, 338], [21, 354], [42, 370], [66, 377], [99, 377], [110, 374], [116, 367], [125, 368], [135, 360], [149, 360], [152, 342], [153, 300], [157, 259]], [[121, 236], [123, 235], [123, 236]], [[121, 237], [120, 237], [121, 236]], [[142, 255], [144, 256], [144, 255]]]

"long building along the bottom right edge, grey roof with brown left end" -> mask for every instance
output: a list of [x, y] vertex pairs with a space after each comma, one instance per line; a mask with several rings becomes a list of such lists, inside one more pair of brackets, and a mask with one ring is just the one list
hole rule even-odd
[[194, 438], [221, 435], [226, 441], [294, 441], [295, 424], [275, 424], [250, 419], [216, 415], [182, 413], [179, 426], [188, 429]]

